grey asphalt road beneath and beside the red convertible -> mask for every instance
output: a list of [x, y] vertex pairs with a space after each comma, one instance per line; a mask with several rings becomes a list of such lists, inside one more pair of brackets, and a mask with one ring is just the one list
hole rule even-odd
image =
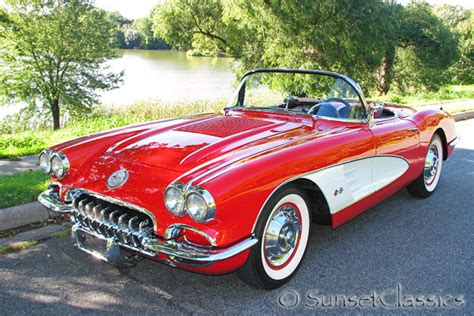
[[123, 273], [61, 238], [0, 256], [1, 313], [472, 315], [474, 120], [457, 126], [463, 141], [430, 199], [402, 190], [335, 231], [314, 225], [303, 266], [281, 289], [255, 290], [233, 274], [203, 276], [151, 261]]

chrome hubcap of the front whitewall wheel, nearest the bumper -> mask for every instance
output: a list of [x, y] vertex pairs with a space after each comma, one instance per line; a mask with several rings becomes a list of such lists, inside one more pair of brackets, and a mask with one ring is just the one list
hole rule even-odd
[[300, 233], [301, 223], [296, 208], [284, 205], [277, 209], [264, 235], [267, 261], [275, 267], [285, 264], [296, 250]]

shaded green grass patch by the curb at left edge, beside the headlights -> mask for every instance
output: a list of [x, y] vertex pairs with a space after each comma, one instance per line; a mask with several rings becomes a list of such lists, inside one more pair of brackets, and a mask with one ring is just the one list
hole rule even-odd
[[0, 176], [0, 209], [36, 201], [48, 183], [49, 176], [41, 171]]

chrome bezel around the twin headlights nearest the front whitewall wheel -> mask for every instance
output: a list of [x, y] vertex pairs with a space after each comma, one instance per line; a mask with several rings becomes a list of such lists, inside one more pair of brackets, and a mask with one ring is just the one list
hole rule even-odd
[[[183, 216], [188, 214], [192, 220], [198, 223], [206, 223], [214, 219], [215, 214], [216, 214], [216, 204], [214, 202], [214, 198], [209, 193], [209, 191], [198, 186], [185, 186], [184, 184], [180, 182], [173, 182], [172, 184], [168, 186], [168, 188], [166, 188], [164, 199], [166, 199], [166, 192], [171, 188], [181, 192], [182, 196], [184, 197]], [[197, 217], [196, 215], [189, 212], [188, 201], [189, 201], [189, 197], [190, 196], [192, 197], [193, 194], [196, 194], [200, 198], [202, 198], [206, 205], [206, 209], [204, 210], [205, 214], [203, 214], [202, 216]], [[172, 211], [168, 209], [168, 207], [166, 206], [166, 202], [165, 202], [165, 207], [171, 214], [175, 215]]]

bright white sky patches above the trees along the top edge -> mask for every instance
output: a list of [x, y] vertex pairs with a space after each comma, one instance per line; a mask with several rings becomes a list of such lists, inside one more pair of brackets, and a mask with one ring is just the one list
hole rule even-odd
[[[147, 16], [151, 9], [163, 0], [96, 0], [96, 6], [107, 11], [118, 11], [124, 17], [137, 19]], [[402, 4], [407, 4], [410, 0], [398, 0]], [[0, 1], [1, 2], [1, 1]], [[473, 0], [428, 0], [431, 4], [448, 3], [452, 5], [462, 5], [466, 8], [474, 8]]]

